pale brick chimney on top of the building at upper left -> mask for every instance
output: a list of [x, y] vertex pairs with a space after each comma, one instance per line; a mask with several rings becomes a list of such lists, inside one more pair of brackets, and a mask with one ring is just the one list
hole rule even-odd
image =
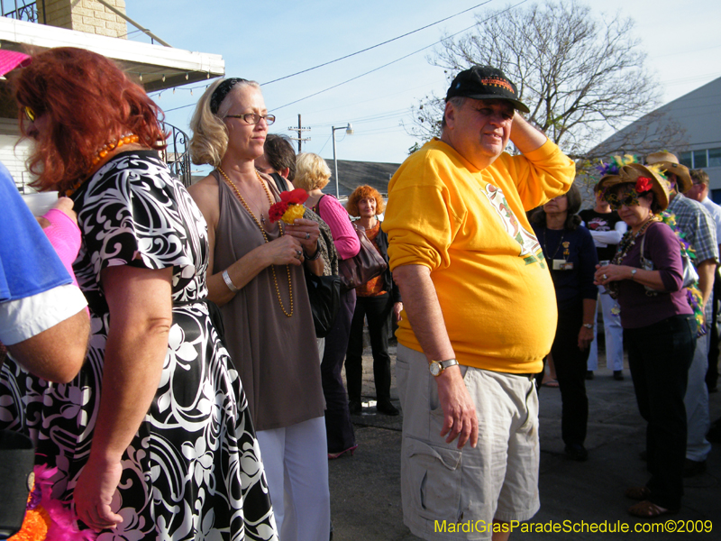
[[[105, 2], [125, 13], [125, 0]], [[37, 5], [38, 21], [41, 23], [111, 38], [125, 38], [128, 33], [123, 17], [96, 0], [44, 0]]]

